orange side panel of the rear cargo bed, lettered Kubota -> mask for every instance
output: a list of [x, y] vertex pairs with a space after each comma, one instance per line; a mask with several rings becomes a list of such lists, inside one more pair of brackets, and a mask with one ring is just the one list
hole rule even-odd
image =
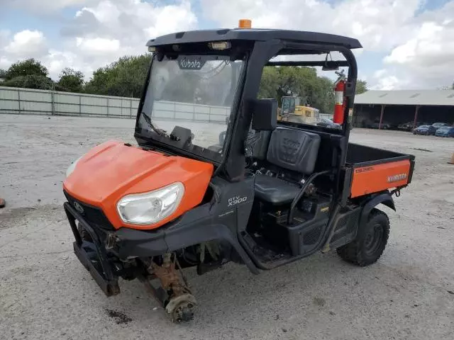
[[410, 161], [397, 161], [353, 170], [350, 198], [404, 186], [409, 181]]

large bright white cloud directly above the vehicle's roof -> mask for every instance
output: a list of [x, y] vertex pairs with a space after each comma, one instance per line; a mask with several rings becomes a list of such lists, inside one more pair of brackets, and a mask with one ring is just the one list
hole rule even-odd
[[[358, 38], [367, 50], [389, 50], [411, 34], [407, 26], [421, 0], [201, 0], [204, 16], [236, 27], [315, 30]], [[399, 31], [399, 34], [396, 34]]]

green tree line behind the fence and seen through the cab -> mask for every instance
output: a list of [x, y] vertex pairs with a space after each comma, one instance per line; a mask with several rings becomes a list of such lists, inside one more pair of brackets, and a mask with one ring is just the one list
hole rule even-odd
[[[151, 55], [121, 57], [116, 62], [96, 69], [85, 81], [84, 74], [71, 68], [62, 69], [53, 81], [48, 69], [34, 59], [16, 62], [9, 69], [0, 69], [1, 86], [67, 91], [107, 96], [140, 97]], [[367, 83], [358, 80], [356, 93], [367, 91]], [[259, 91], [260, 98], [299, 96], [301, 104], [332, 112], [333, 81], [320, 77], [313, 67], [265, 67]]]

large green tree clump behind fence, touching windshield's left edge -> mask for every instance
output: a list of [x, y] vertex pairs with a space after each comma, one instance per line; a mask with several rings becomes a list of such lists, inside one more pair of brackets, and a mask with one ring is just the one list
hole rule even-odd
[[85, 91], [89, 94], [139, 97], [150, 61], [150, 55], [121, 57], [118, 61], [97, 69], [87, 82]]

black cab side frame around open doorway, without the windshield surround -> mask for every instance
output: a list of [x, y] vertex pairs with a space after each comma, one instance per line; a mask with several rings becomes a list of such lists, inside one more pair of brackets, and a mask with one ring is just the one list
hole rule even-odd
[[[321, 55], [329, 52], [340, 52], [345, 60], [339, 61], [275, 61], [272, 57], [277, 55]], [[253, 62], [251, 62], [251, 60]], [[350, 136], [348, 113], [353, 109], [355, 97], [355, 85], [358, 77], [358, 66], [353, 52], [342, 45], [326, 45], [306, 42], [287, 42], [284, 40], [267, 40], [255, 42], [250, 58], [246, 65], [246, 74], [243, 84], [243, 94], [240, 99], [238, 110], [233, 111], [233, 122], [228, 127], [226, 135], [226, 157], [219, 166], [217, 172], [222, 170], [231, 181], [240, 181], [245, 171], [244, 141], [247, 139], [252, 113], [248, 110], [248, 104], [257, 98], [262, 70], [265, 66], [320, 66], [320, 67], [348, 67], [348, 82], [345, 88], [345, 111], [342, 130], [326, 129], [314, 125], [301, 125], [298, 123], [279, 122], [282, 125], [294, 125], [305, 129], [328, 132], [333, 135], [343, 135], [345, 138], [344, 148], [347, 148]], [[235, 109], [235, 108], [233, 108]], [[341, 166], [345, 164], [345, 157]]]

